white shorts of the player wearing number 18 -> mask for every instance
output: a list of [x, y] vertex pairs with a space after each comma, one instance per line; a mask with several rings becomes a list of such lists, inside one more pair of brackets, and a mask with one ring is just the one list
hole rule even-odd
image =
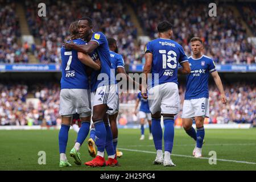
[[156, 85], [148, 90], [148, 104], [152, 114], [177, 114], [180, 110], [179, 89], [175, 82]]

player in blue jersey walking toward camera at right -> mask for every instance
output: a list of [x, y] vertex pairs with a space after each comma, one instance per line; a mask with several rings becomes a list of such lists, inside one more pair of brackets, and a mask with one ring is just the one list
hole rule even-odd
[[[183, 104], [183, 127], [186, 133], [196, 141], [193, 155], [196, 158], [202, 156], [204, 141], [204, 118], [209, 117], [209, 75], [220, 91], [220, 99], [226, 103], [226, 97], [222, 86], [221, 78], [218, 76], [212, 58], [203, 55], [203, 42], [200, 38], [194, 37], [190, 41], [193, 55], [188, 57], [191, 73], [187, 76], [185, 99]], [[193, 120], [196, 122], [196, 131], [192, 127]]]

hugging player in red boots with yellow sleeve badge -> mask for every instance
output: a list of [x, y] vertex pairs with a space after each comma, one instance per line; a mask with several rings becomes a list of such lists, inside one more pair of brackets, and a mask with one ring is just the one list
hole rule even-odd
[[[93, 102], [93, 123], [95, 126], [97, 140], [96, 146], [98, 148], [97, 156], [92, 161], [86, 162], [86, 166], [101, 167], [101, 166], [117, 166], [112, 131], [109, 123], [104, 122], [106, 113], [117, 108], [117, 85], [114, 73], [112, 72], [112, 65], [110, 61], [109, 46], [106, 36], [102, 32], [93, 32], [92, 19], [84, 17], [79, 20], [79, 32], [85, 34], [87, 44], [77, 45], [73, 42], [64, 43], [63, 46], [68, 49], [75, 49], [83, 53], [97, 52], [101, 60], [101, 70], [94, 82], [96, 92]], [[91, 97], [92, 98], [92, 97]], [[81, 129], [80, 129], [81, 130]], [[105, 162], [104, 151], [108, 153], [108, 160]]]

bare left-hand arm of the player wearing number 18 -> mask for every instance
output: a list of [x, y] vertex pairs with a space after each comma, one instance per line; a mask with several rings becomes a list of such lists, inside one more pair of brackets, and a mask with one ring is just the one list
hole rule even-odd
[[146, 59], [146, 63], [143, 68], [141, 95], [144, 99], [147, 99], [147, 95], [146, 95], [146, 93], [147, 93], [147, 75], [148, 75], [148, 73], [151, 73], [151, 67], [152, 67], [152, 61], [153, 61], [152, 53], [147, 52], [145, 54], [145, 59]]

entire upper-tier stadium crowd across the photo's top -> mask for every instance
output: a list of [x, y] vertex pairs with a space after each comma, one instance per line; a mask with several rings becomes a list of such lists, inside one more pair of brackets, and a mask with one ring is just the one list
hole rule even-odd
[[[118, 40], [119, 53], [126, 64], [144, 63], [144, 44], [138, 38], [137, 27], [131, 22], [127, 11], [129, 3], [141, 27], [151, 39], [157, 37], [156, 24], [160, 20], [170, 20], [174, 24], [173, 39], [191, 55], [189, 39], [200, 36], [204, 40], [205, 54], [213, 57], [219, 64], [252, 64], [256, 60], [256, 47], [247, 42], [246, 29], [242, 19], [255, 34], [255, 3], [251, 6], [239, 6], [241, 17], [225, 4], [218, 5], [216, 17], [209, 17], [205, 3], [191, 1], [48, 1], [47, 16], [38, 16], [40, 1], [24, 1], [26, 18], [31, 34], [40, 44], [33, 44], [29, 49], [40, 63], [60, 63], [61, 44], [68, 40], [68, 27], [71, 22], [84, 15], [90, 16], [94, 31], [102, 31], [107, 37]], [[4, 6], [1, 13], [0, 63], [27, 63], [26, 44], [20, 46], [19, 22], [15, 17], [15, 3]], [[102, 18], [104, 17], [104, 19]], [[171, 17], [171, 19], [170, 19]], [[9, 28], [7, 28], [9, 27]], [[13, 45], [13, 46], [11, 46]]]

